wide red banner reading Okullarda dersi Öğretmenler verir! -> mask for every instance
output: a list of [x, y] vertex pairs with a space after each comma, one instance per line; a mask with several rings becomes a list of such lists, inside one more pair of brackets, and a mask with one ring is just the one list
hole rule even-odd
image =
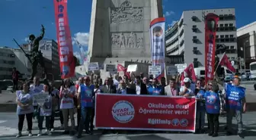
[[195, 98], [97, 94], [98, 129], [194, 132]]

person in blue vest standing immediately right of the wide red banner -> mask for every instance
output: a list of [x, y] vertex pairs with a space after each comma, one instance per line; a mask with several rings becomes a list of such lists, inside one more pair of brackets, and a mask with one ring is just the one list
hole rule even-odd
[[195, 89], [195, 95], [197, 98], [197, 114], [196, 114], [196, 134], [197, 133], [204, 133], [204, 124], [205, 124], [205, 103], [202, 100], [203, 96], [205, 94], [205, 89], [203, 89], [203, 86], [201, 85], [202, 81], [201, 79], [197, 79], [196, 82], [196, 89]]

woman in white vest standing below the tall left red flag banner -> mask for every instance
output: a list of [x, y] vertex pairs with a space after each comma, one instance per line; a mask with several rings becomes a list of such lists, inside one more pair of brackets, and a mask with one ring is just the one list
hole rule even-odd
[[[75, 86], [72, 86], [71, 79], [65, 79], [64, 85], [60, 88], [59, 98], [60, 109], [62, 110], [63, 123], [65, 131], [63, 134], [75, 134], [75, 119], [74, 119], [74, 96], [75, 96]], [[71, 120], [71, 131], [68, 130], [69, 117]]]

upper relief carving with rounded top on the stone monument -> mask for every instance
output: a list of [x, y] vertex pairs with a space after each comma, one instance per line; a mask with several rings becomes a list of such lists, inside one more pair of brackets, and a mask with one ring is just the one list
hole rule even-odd
[[120, 5], [120, 8], [110, 8], [110, 23], [139, 23], [143, 20], [143, 8], [133, 7], [126, 1]]

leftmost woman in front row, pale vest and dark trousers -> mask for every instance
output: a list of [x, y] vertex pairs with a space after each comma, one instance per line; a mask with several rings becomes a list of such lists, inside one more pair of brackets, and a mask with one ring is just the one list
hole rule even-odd
[[29, 90], [30, 82], [24, 82], [22, 85], [22, 90], [16, 91], [16, 103], [17, 106], [17, 114], [18, 114], [18, 135], [16, 136], [21, 137], [21, 132], [24, 124], [24, 119], [26, 116], [27, 119], [27, 130], [28, 136], [32, 136], [32, 118], [34, 114], [34, 107], [33, 107], [33, 91]]

